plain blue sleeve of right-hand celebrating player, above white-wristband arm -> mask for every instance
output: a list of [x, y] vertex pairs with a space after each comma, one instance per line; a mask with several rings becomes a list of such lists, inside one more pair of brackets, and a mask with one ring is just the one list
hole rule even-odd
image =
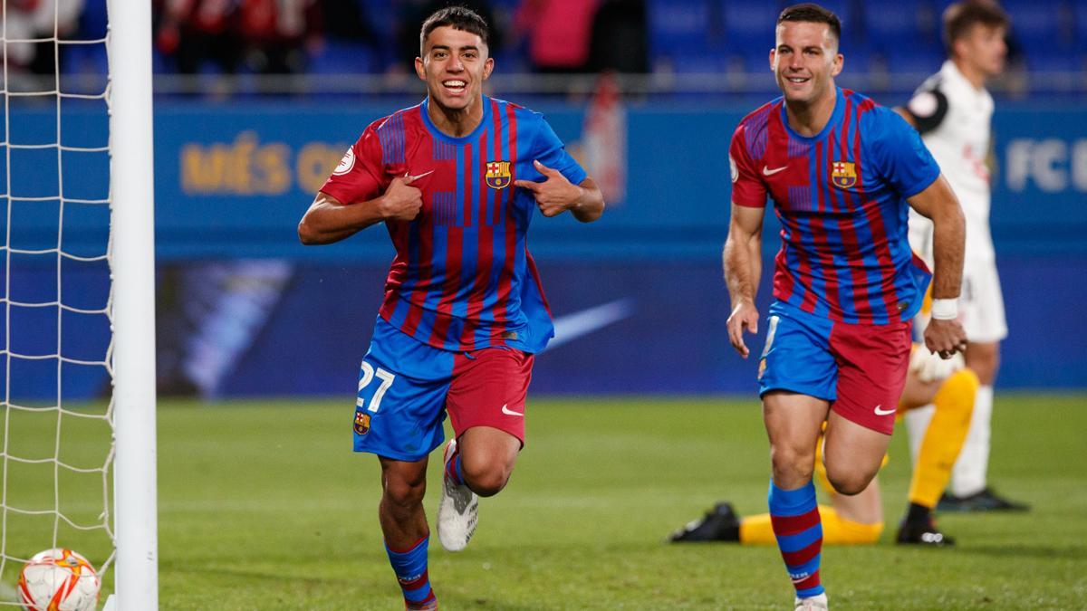
[[870, 151], [878, 174], [902, 197], [913, 197], [928, 188], [940, 175], [940, 166], [921, 140], [921, 134], [890, 109], [872, 113], [874, 139]]

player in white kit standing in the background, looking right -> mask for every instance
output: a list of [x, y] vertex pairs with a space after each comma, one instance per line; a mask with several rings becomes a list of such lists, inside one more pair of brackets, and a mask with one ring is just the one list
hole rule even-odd
[[[985, 82], [1003, 71], [1008, 16], [995, 2], [967, 0], [944, 12], [944, 38], [949, 59], [926, 80], [904, 109], [925, 146], [944, 169], [966, 217], [963, 291], [959, 298], [962, 324], [970, 342], [966, 366], [982, 387], [974, 406], [970, 434], [951, 478], [950, 494], [940, 509], [960, 511], [1025, 510], [1024, 503], [995, 494], [986, 484], [992, 383], [1000, 361], [1000, 340], [1008, 336], [1004, 301], [1000, 295], [992, 237], [989, 235], [989, 154], [992, 96]], [[910, 219], [910, 242], [922, 258], [932, 257], [933, 226], [927, 219]], [[911, 439], [925, 431], [932, 412], [919, 410], [905, 417]]]

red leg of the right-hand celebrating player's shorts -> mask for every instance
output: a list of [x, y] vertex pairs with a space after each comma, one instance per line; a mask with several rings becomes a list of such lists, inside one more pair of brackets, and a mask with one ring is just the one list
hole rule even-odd
[[838, 388], [830, 409], [865, 428], [885, 435], [895, 431], [910, 364], [910, 322], [834, 324], [830, 350], [838, 364]]

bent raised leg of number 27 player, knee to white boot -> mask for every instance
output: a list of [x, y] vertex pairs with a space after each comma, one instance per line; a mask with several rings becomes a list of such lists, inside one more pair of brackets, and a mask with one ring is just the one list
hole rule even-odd
[[505, 487], [521, 440], [490, 426], [474, 426], [446, 447], [446, 470], [438, 504], [438, 540], [460, 551], [475, 534], [479, 498]]

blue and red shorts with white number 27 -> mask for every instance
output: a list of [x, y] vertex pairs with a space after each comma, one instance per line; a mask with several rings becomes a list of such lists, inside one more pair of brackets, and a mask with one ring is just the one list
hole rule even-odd
[[533, 356], [512, 348], [451, 352], [423, 344], [380, 316], [359, 372], [354, 451], [415, 462], [454, 434], [491, 426], [524, 444]]

